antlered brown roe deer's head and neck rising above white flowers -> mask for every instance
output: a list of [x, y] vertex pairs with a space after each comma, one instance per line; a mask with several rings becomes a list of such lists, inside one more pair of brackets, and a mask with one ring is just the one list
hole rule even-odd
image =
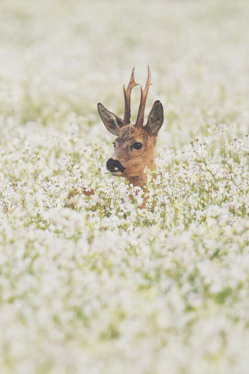
[[141, 87], [141, 98], [136, 123], [130, 124], [130, 93], [137, 83], [134, 81], [132, 69], [127, 88], [124, 87], [124, 120], [109, 112], [104, 105], [98, 103], [98, 111], [107, 130], [117, 135], [114, 142], [115, 153], [107, 161], [107, 169], [114, 176], [122, 176], [133, 186], [143, 186], [146, 183], [145, 166], [155, 169], [154, 146], [156, 137], [163, 123], [163, 107], [159, 100], [155, 101], [148, 115], [148, 121], [143, 126], [145, 102], [150, 86], [150, 70], [144, 90]]

